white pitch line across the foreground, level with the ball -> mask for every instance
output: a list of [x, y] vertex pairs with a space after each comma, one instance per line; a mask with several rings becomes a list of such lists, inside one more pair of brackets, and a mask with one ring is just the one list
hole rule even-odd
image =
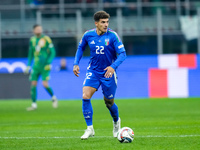
[[[199, 137], [200, 135], [144, 135], [144, 136], [135, 136], [135, 138], [174, 138], [174, 137]], [[113, 138], [113, 136], [94, 136], [96, 138]], [[0, 139], [73, 139], [80, 138], [79, 136], [70, 136], [70, 137], [0, 137]]]

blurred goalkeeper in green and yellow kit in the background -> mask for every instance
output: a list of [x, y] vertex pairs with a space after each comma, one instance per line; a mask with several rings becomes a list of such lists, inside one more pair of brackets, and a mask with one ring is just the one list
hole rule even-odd
[[37, 81], [42, 76], [42, 85], [52, 97], [53, 108], [58, 107], [58, 100], [53, 93], [52, 88], [49, 86], [49, 74], [51, 70], [51, 63], [55, 57], [55, 49], [51, 39], [42, 34], [42, 26], [33, 26], [34, 36], [30, 38], [29, 53], [28, 53], [28, 65], [25, 69], [25, 73], [28, 74], [31, 69], [33, 60], [33, 66], [30, 74], [31, 80], [31, 99], [32, 105], [27, 108], [27, 111], [37, 109]]

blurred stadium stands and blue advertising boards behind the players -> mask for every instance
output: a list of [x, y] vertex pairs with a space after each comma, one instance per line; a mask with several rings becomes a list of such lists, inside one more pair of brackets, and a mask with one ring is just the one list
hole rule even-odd
[[[198, 0], [1, 1], [0, 98], [30, 97], [22, 71], [32, 26], [39, 23], [57, 53], [50, 84], [59, 99], [80, 99], [89, 50], [80, 78], [73, 75], [73, 57], [82, 34], [94, 28], [97, 10], [110, 13], [110, 28], [127, 50], [128, 58], [118, 69], [117, 98], [199, 97], [199, 6]], [[59, 71], [61, 58], [67, 60], [66, 71]], [[41, 84], [38, 90], [39, 99], [49, 99]], [[94, 98], [101, 97], [99, 90]]]

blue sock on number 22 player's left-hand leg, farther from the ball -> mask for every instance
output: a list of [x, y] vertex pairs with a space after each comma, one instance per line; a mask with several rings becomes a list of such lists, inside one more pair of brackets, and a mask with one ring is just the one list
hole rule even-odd
[[92, 125], [93, 109], [90, 99], [82, 99], [82, 111], [87, 126]]

